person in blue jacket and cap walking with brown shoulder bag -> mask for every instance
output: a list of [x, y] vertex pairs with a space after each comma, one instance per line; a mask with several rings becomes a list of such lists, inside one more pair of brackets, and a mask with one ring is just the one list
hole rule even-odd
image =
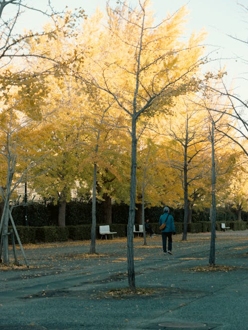
[[170, 209], [168, 206], [164, 207], [164, 213], [159, 218], [159, 226], [162, 223], [166, 222], [165, 228], [162, 230], [162, 241], [163, 241], [163, 250], [164, 254], [167, 254], [167, 237], [168, 237], [168, 253], [172, 254], [172, 234], [176, 234], [174, 218], [170, 214]]

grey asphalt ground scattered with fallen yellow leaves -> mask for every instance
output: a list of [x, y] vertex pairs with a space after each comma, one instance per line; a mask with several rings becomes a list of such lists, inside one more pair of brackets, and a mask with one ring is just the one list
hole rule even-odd
[[134, 238], [136, 293], [128, 293], [126, 239], [24, 245], [29, 268], [0, 265], [0, 330], [248, 329], [248, 230]]

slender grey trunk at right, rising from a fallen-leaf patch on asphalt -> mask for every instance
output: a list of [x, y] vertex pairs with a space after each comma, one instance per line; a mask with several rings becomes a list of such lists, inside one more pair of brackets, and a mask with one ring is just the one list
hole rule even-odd
[[210, 256], [209, 265], [215, 265], [215, 223], [216, 223], [216, 201], [215, 201], [215, 151], [214, 151], [214, 123], [212, 122], [212, 224], [211, 224], [211, 244], [210, 244]]

